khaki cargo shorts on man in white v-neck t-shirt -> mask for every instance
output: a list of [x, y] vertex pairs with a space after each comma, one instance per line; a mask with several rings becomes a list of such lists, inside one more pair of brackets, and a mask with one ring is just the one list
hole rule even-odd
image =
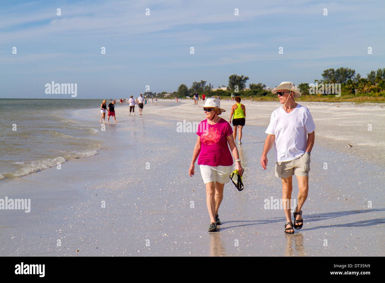
[[288, 178], [290, 176], [309, 176], [310, 155], [302, 154], [300, 157], [285, 161], [275, 162], [275, 176], [279, 178]]

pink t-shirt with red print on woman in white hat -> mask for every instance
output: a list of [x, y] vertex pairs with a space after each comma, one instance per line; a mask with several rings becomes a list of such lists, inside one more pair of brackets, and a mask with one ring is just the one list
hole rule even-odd
[[200, 122], [196, 134], [201, 137], [202, 142], [198, 165], [233, 165], [233, 157], [226, 139], [233, 134], [233, 129], [225, 119], [221, 118], [214, 125], [210, 125], [207, 119]]

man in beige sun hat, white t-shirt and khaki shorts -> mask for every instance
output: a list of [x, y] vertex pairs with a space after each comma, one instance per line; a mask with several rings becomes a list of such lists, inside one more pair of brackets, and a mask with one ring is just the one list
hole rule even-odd
[[[295, 102], [294, 99], [300, 97], [301, 92], [292, 82], [281, 82], [271, 92], [278, 94], [282, 106], [271, 114], [261, 165], [266, 170], [267, 154], [274, 144], [275, 176], [282, 181], [282, 201], [287, 222], [285, 233], [293, 234], [293, 228], [301, 229], [303, 225], [301, 208], [308, 197], [310, 152], [315, 139], [315, 124], [310, 111]], [[293, 213], [294, 225], [290, 215], [293, 175], [297, 177], [299, 189], [298, 204]]]

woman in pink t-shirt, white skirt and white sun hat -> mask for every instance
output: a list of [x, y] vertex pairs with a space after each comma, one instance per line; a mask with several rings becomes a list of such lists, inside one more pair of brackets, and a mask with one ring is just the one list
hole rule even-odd
[[[192, 154], [189, 175], [195, 174], [194, 166], [198, 158], [203, 182], [206, 185], [206, 203], [210, 216], [209, 232], [216, 232], [221, 224], [218, 209], [223, 199], [224, 184], [229, 183], [233, 171], [233, 157], [235, 169], [243, 173], [238, 149], [234, 143], [233, 130], [229, 123], [218, 115], [225, 112], [218, 99], [208, 98], [203, 106], [206, 119], [198, 125], [197, 142]], [[231, 152], [229, 150], [229, 146]]]

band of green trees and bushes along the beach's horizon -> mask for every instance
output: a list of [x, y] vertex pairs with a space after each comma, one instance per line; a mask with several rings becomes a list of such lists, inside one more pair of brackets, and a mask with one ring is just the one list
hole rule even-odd
[[[318, 101], [318, 102], [385, 102], [385, 68], [372, 70], [367, 74], [366, 78], [362, 78], [355, 70], [348, 68], [327, 69], [324, 70], [322, 79], [314, 80], [314, 83], [301, 83], [297, 87], [300, 89], [302, 96], [297, 101]], [[172, 92], [171, 99], [174, 97], [192, 97], [196, 92], [199, 95], [206, 94], [206, 97], [219, 97], [221, 99], [231, 98], [231, 95], [239, 95], [242, 100], [251, 99], [258, 101], [277, 101], [275, 94], [265, 90], [265, 84], [258, 83], [249, 84], [250, 90], [243, 90], [246, 87], [246, 81], [249, 77], [244, 75], [230, 75], [227, 90], [218, 89], [212, 91], [213, 85], [206, 85], [205, 80], [193, 82], [188, 89], [187, 85], [181, 84], [177, 91]], [[341, 84], [341, 96], [336, 94], [327, 94], [325, 91], [318, 89], [320, 84]], [[312, 86], [316, 87], [312, 88]], [[225, 85], [222, 85], [225, 87]], [[218, 88], [220, 88], [218, 86]], [[237, 91], [238, 90], [238, 91]], [[318, 93], [316, 93], [318, 90]], [[164, 97], [167, 92], [150, 93], [152, 97]], [[325, 94], [326, 93], [326, 94]], [[331, 92], [333, 93], [333, 92]], [[339, 94], [337, 95], [339, 96]]]

